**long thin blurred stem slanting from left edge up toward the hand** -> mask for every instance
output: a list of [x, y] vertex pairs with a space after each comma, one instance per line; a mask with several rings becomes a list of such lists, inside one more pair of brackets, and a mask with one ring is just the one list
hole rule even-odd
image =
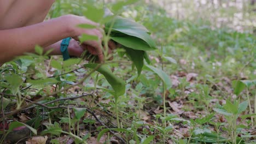
[[[81, 83], [84, 82], [85, 79], [87, 79], [92, 73], [94, 73], [95, 70], [97, 70], [98, 68], [100, 68], [102, 64], [103, 64], [103, 63], [97, 65], [97, 67], [96, 67], [94, 70], [91, 70], [90, 73], [89, 73], [88, 75], [86, 75], [86, 76], [83, 78], [83, 80], [81, 80], [81, 81], [78, 82], [77, 84], [75, 84], [75, 85], [73, 85], [73, 86], [70, 86], [70, 87], [67, 87], [67, 88], [64, 88], [64, 89], [62, 89], [61, 91], [58, 91], [58, 92], [55, 92], [55, 93], [52, 93], [52, 94], [48, 94], [48, 95], [46, 95], [46, 96], [44, 96], [44, 97], [42, 97], [42, 98], [40, 98], [40, 99], [38, 99], [38, 100], [33, 101], [33, 103], [37, 103], [38, 101], [41, 101], [41, 100], [43, 100], [43, 99], [45, 99], [45, 98], [47, 98], [47, 97], [50, 97], [50, 95], [55, 95], [55, 94], [58, 94], [58, 93], [67, 91], [68, 89], [70, 89], [70, 88], [72, 88], [72, 87], [74, 87], [74, 86], [80, 85]], [[31, 106], [33, 103], [27, 104], [27, 105], [25, 105], [25, 106], [21, 106], [20, 109], [14, 110], [14, 111], [10, 112], [8, 115], [6, 115], [5, 117], [2, 117], [2, 118], [0, 119], [0, 121], [2, 121], [2, 120], [3, 120], [4, 118], [6, 118], [6, 117], [9, 117], [9, 116], [11, 116], [11, 115], [14, 115], [15, 113], [18, 113], [19, 111], [21, 111], [22, 109], [25, 109], [26, 107]]]

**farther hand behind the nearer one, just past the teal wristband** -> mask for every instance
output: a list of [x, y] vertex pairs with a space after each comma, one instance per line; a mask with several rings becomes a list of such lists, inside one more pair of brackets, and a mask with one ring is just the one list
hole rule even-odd
[[[114, 49], [118, 48], [118, 44], [115, 44], [114, 41], [110, 40], [108, 41], [108, 60], [112, 60], [113, 56], [112, 56], [112, 52]], [[80, 45], [78, 41], [71, 39], [68, 45], [68, 53], [70, 56], [75, 56], [75, 57], [80, 57], [82, 55], [82, 53], [88, 50], [92, 55], [97, 56], [97, 52], [96, 49], [90, 45], [86, 45], [86, 44], [82, 44]], [[103, 55], [103, 53], [102, 53]], [[90, 59], [86, 59], [86, 60], [90, 60]]]

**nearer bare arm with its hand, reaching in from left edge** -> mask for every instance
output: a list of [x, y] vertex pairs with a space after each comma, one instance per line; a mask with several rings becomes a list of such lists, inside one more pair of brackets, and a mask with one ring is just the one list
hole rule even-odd
[[[66, 15], [56, 19], [41, 22], [27, 27], [6, 29], [0, 31], [0, 63], [10, 61], [15, 56], [23, 55], [24, 52], [33, 52], [35, 45], [49, 48], [48, 46], [66, 37], [77, 38], [82, 33], [97, 35], [102, 34], [97, 29], [81, 29], [76, 26], [80, 23], [97, 25], [84, 17]], [[87, 42], [86, 42], [87, 43]], [[88, 41], [97, 49], [97, 55], [102, 55], [98, 41]]]

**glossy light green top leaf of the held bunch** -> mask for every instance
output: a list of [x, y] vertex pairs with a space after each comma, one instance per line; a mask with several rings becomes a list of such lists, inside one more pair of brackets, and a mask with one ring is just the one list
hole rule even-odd
[[[152, 49], [155, 49], [154, 40], [148, 34], [149, 31], [146, 27], [142, 26], [141, 24], [124, 17], [117, 16], [113, 21], [109, 21], [105, 25], [105, 32], [108, 32], [108, 29], [112, 27], [112, 32], [117, 31], [118, 34], [126, 34], [133, 37], [137, 37], [139, 39], [144, 40]], [[112, 34], [110, 34], [112, 36]], [[114, 36], [114, 35], [113, 35]]]

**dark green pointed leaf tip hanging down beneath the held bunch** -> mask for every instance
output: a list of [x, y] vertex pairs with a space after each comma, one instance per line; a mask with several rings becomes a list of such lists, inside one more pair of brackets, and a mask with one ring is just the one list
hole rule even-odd
[[125, 49], [126, 55], [131, 59], [133, 64], [135, 64], [137, 68], [138, 76], [141, 75], [141, 71], [144, 65], [144, 51], [133, 50], [133, 49]]

